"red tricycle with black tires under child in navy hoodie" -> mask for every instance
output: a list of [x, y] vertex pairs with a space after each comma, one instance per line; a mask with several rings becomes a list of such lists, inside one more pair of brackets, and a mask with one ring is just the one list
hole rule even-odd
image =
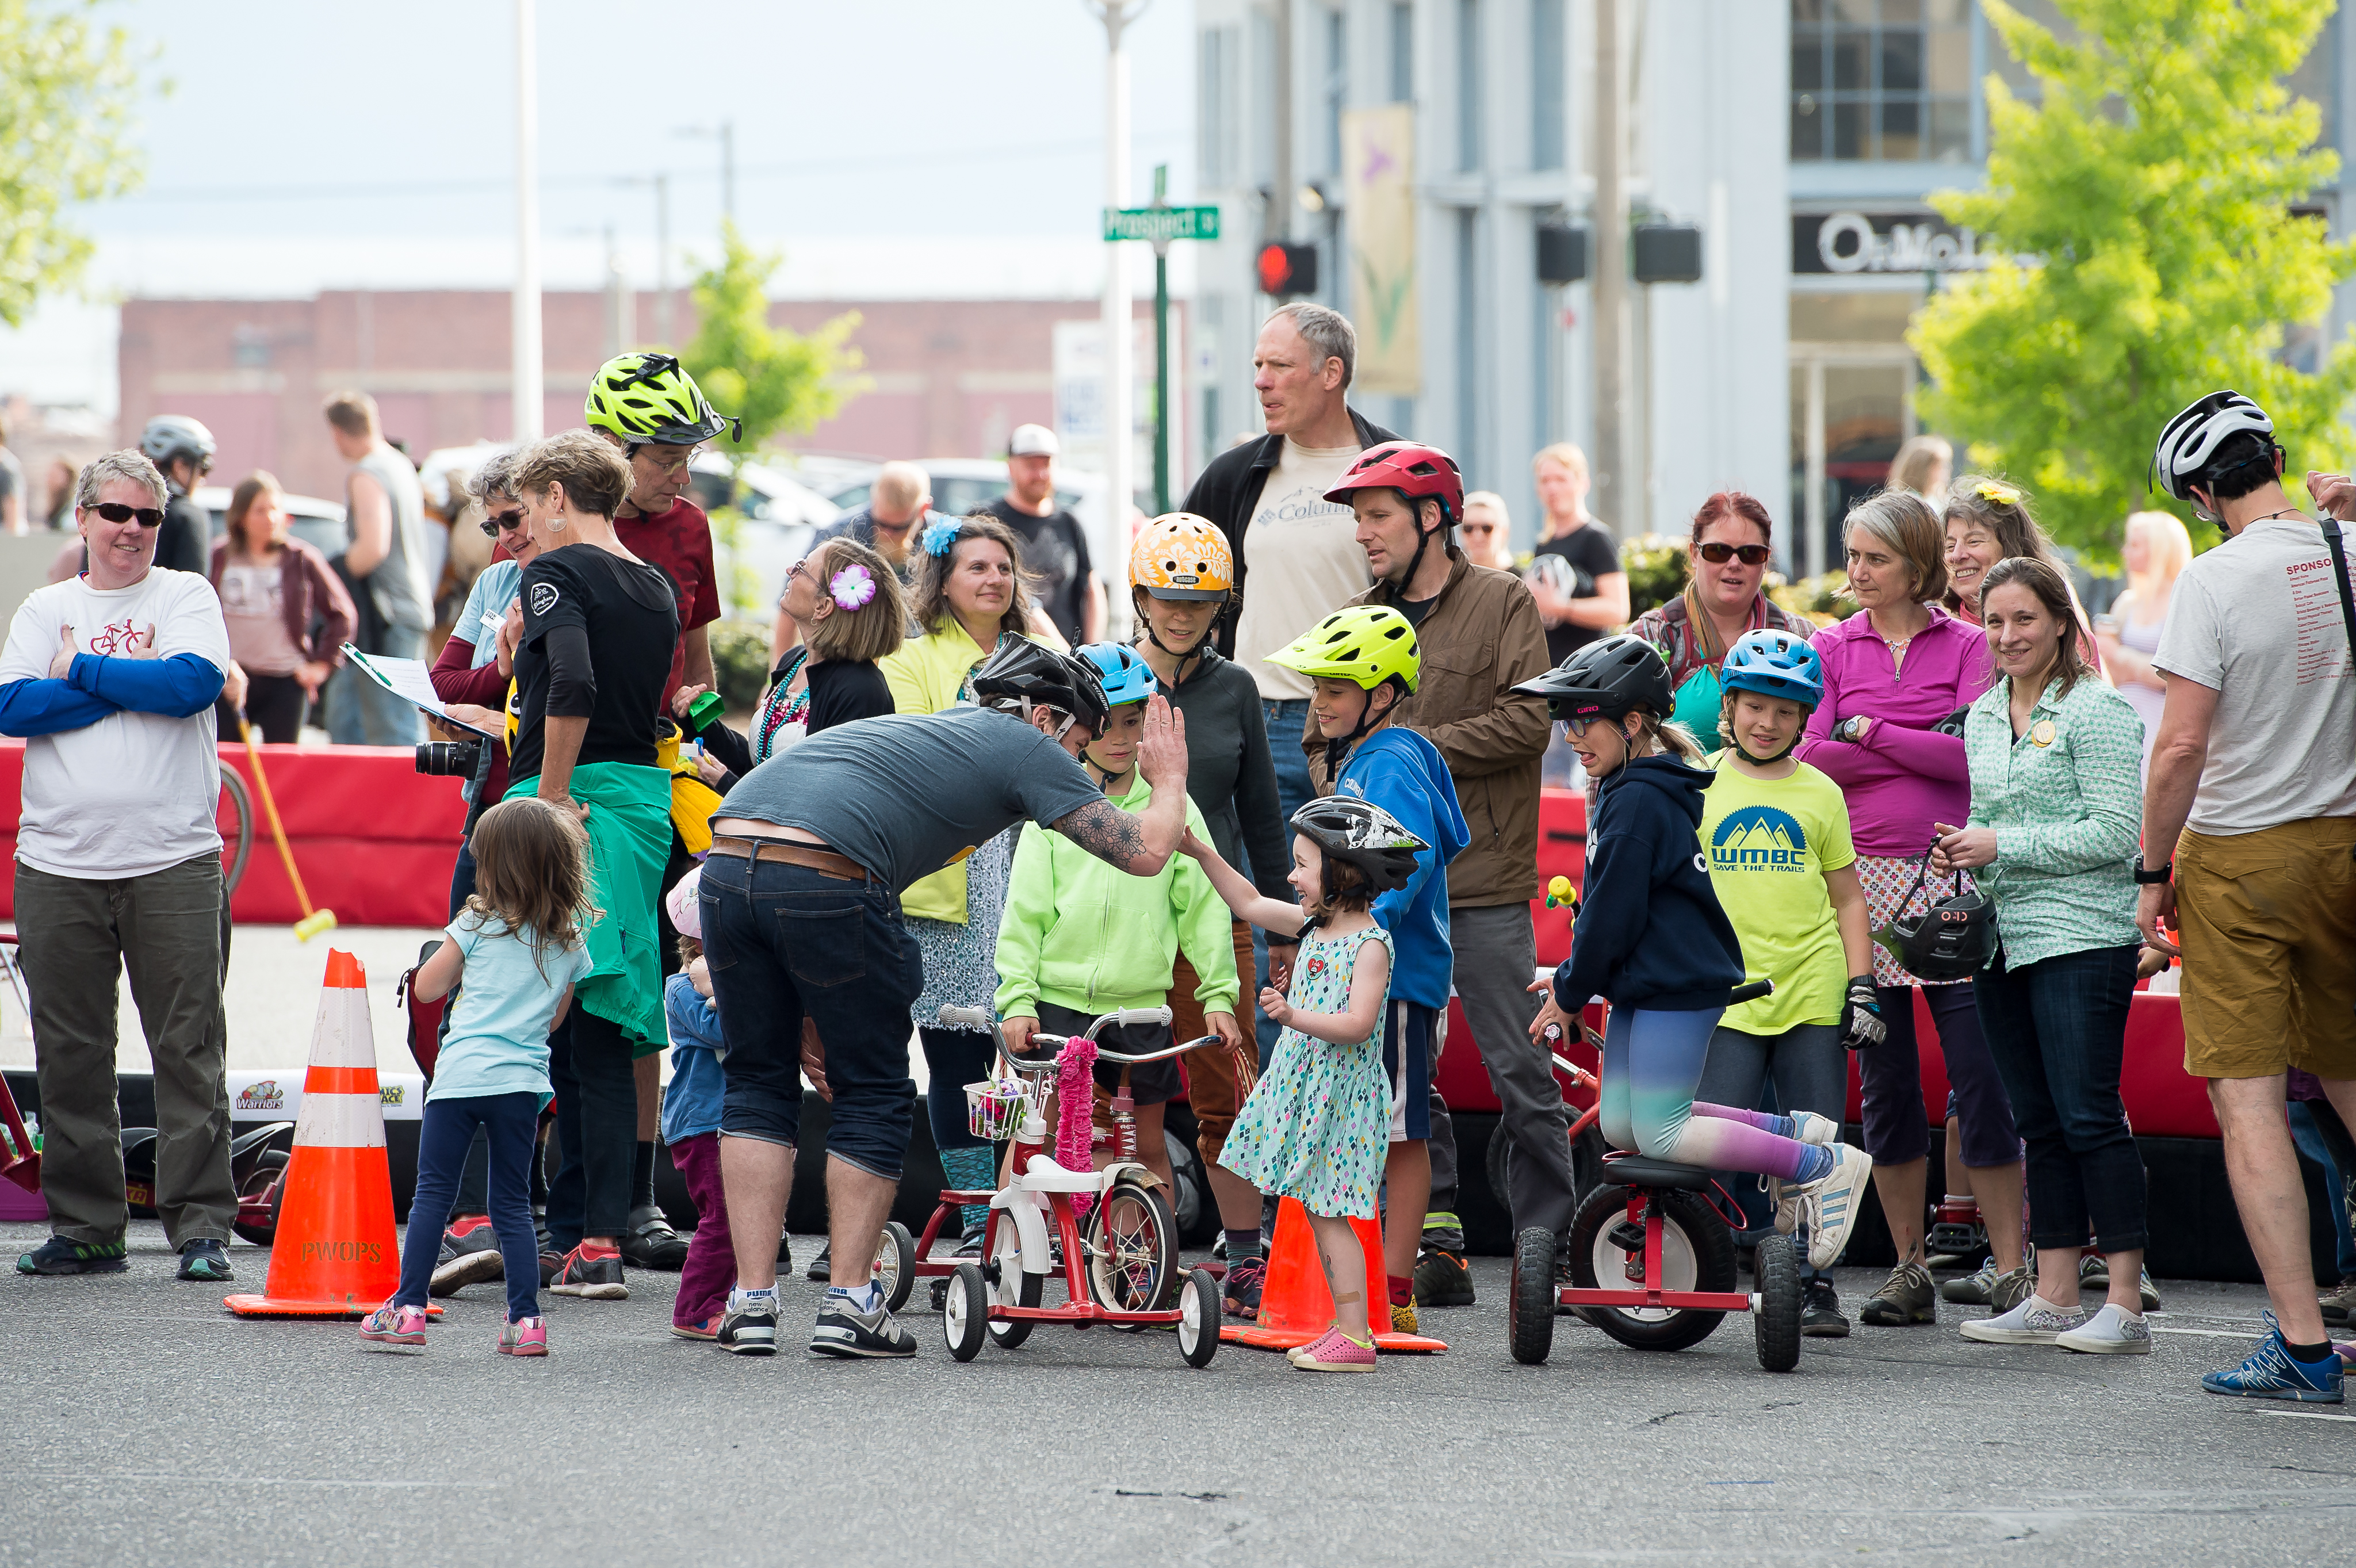
[[[1772, 991], [1758, 979], [1732, 1001]], [[1586, 1029], [1597, 1050], [1602, 1041]], [[1593, 1074], [1555, 1057], [1555, 1069], [1586, 1088]], [[1600, 1107], [1571, 1128], [1571, 1144], [1590, 1135]], [[1710, 1172], [1640, 1154], [1604, 1154], [1595, 1187], [1581, 1198], [1562, 1241], [1571, 1283], [1555, 1278], [1555, 1236], [1531, 1227], [1515, 1238], [1508, 1340], [1513, 1358], [1538, 1366], [1555, 1342], [1555, 1311], [1569, 1309], [1621, 1344], [1685, 1349], [1701, 1344], [1729, 1311], [1748, 1311], [1760, 1366], [1788, 1373], [1800, 1366], [1800, 1257], [1791, 1236], [1767, 1236], [1753, 1253], [1758, 1290], [1736, 1290], [1732, 1210]], [[1604, 1283], [1612, 1281], [1612, 1283]]]

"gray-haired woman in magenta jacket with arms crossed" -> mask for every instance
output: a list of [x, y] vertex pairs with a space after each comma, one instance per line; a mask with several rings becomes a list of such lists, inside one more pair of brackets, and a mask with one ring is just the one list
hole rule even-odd
[[[1988, 687], [1988, 640], [1934, 600], [1946, 593], [1946, 537], [1920, 497], [1885, 490], [1847, 518], [1849, 589], [1864, 605], [1814, 636], [1824, 659], [1824, 704], [1807, 720], [1798, 756], [1840, 784], [1849, 803], [1857, 876], [1866, 909], [1882, 930], [1920, 911], [1932, 888], [1906, 892], [1930, 850], [1934, 822], [1963, 822], [1972, 808], [1972, 777], [1963, 739], [1939, 725]], [[1941, 881], [1939, 895], [1951, 890]], [[1913, 986], [1922, 986], [1946, 1078], [1963, 1121], [1963, 1163], [1972, 1177], [1998, 1285], [2026, 1295], [2021, 1271], [2021, 1144], [1996, 1062], [1979, 1034], [1972, 982], [1915, 979], [1897, 958], [1873, 949], [1873, 984], [1890, 1038], [1857, 1057], [1864, 1088], [1864, 1142], [1873, 1156], [1873, 1187], [1882, 1196], [1899, 1264], [1859, 1316], [1866, 1323], [1937, 1323], [1939, 1295], [1922, 1262], [1922, 1194], [1930, 1116], [1922, 1104], [1922, 1059], [1915, 1048]], [[1996, 1304], [1996, 1302], [1991, 1302]], [[1996, 1304], [1998, 1311], [2014, 1302]]]

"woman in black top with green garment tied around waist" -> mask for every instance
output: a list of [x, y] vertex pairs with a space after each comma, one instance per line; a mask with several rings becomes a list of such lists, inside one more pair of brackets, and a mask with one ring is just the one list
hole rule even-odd
[[516, 461], [516, 497], [540, 544], [523, 567], [523, 638], [511, 697], [509, 796], [537, 793], [582, 815], [596, 918], [591, 968], [549, 1034], [563, 1156], [549, 1182], [549, 1234], [565, 1253], [556, 1295], [620, 1300], [638, 1085], [631, 1062], [662, 1050], [655, 899], [671, 852], [671, 777], [655, 765], [679, 600], [662, 567], [622, 549], [613, 513], [629, 464], [589, 431]]

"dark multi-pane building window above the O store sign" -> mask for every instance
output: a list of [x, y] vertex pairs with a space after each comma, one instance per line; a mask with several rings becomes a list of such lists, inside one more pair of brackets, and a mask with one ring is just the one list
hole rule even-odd
[[1972, 0], [1791, 0], [1793, 162], [1967, 162]]

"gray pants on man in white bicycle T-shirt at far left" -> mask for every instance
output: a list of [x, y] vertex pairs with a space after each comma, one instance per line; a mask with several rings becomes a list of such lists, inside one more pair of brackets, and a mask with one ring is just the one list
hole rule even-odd
[[165, 1238], [229, 1241], [229, 1019], [221, 1012], [221, 857], [115, 881], [16, 864], [16, 932], [33, 991], [40, 1194], [66, 1241], [123, 1241], [115, 977], [155, 1064], [155, 1215]]

